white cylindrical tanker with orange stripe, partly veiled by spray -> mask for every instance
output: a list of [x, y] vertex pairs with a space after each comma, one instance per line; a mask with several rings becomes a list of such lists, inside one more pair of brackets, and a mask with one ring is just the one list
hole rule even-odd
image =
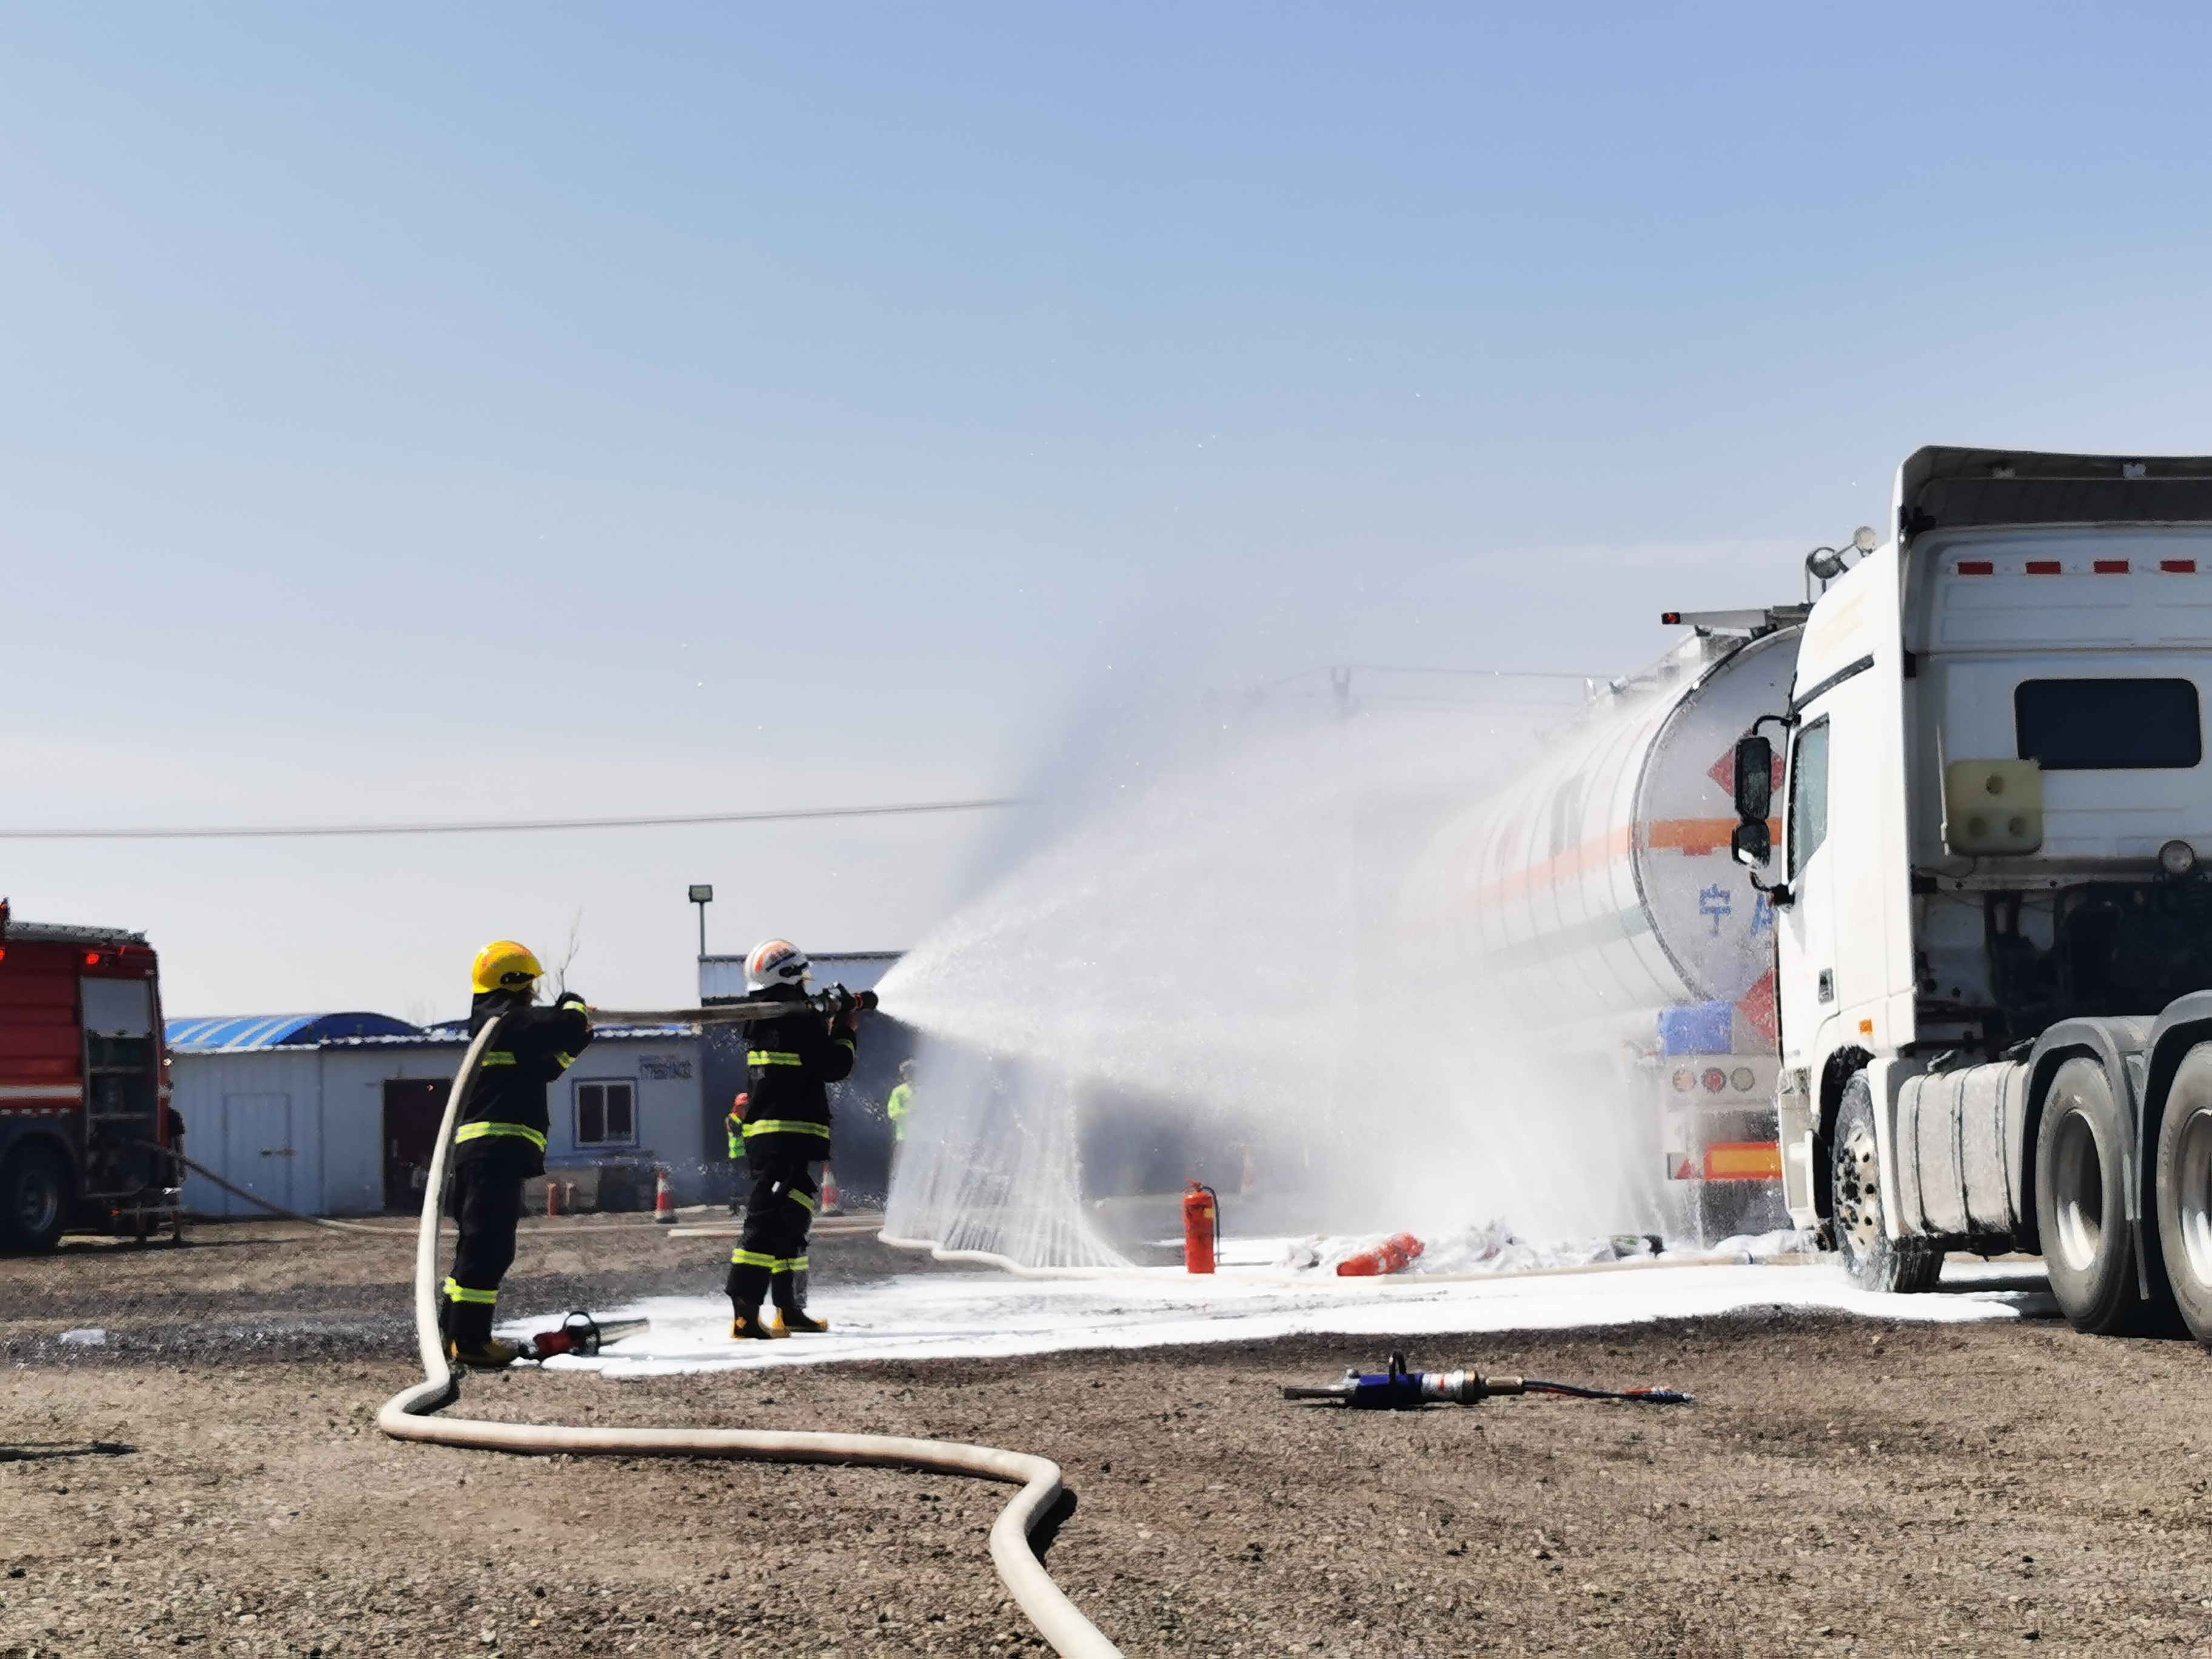
[[1734, 743], [1785, 703], [1803, 608], [1666, 622], [1692, 633], [1593, 686], [1431, 843], [1411, 896], [1440, 969], [1555, 1075], [1628, 1091], [1661, 1225], [1710, 1241], [1787, 1225], [1774, 909], [1728, 843]]

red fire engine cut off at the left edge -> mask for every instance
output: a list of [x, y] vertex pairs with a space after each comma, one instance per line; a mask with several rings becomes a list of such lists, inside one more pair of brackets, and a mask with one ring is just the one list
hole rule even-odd
[[144, 933], [0, 900], [0, 1248], [177, 1219], [161, 991]]

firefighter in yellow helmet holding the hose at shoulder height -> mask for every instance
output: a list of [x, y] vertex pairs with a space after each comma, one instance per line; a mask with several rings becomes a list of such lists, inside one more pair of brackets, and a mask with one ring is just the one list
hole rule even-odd
[[555, 1006], [533, 1006], [544, 969], [513, 940], [476, 953], [476, 1000], [469, 1033], [500, 1020], [469, 1084], [469, 1104], [453, 1130], [449, 1203], [460, 1221], [453, 1272], [445, 1281], [447, 1354], [456, 1365], [513, 1365], [515, 1345], [491, 1334], [500, 1281], [515, 1261], [522, 1183], [546, 1168], [546, 1084], [591, 1042], [591, 1015], [573, 991]]

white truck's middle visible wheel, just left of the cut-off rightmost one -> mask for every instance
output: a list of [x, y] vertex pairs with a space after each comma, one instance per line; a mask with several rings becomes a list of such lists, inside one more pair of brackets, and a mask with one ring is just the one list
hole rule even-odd
[[2035, 1223], [2068, 1325], [2128, 1336], [2157, 1323], [2135, 1281], [2128, 1117], [2099, 1060], [2077, 1055], [2051, 1077], [2035, 1130]]

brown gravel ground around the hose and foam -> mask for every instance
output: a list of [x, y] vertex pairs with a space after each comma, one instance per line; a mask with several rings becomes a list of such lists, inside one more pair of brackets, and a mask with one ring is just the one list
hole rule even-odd
[[[0, 1263], [20, 1345], [0, 1652], [1037, 1650], [984, 1553], [1006, 1489], [394, 1444], [372, 1418], [414, 1380], [405, 1338], [378, 1334], [400, 1327], [405, 1248], [199, 1239]], [[712, 1241], [688, 1243], [533, 1223], [518, 1303], [524, 1285], [560, 1310], [575, 1287], [719, 1283]], [[830, 1314], [836, 1283], [909, 1265], [867, 1239], [812, 1256]], [[86, 1305], [111, 1345], [55, 1345], [95, 1323]], [[316, 1340], [358, 1352], [161, 1347], [164, 1307], [195, 1340], [314, 1318]], [[1051, 1571], [1133, 1655], [2212, 1655], [2212, 1422], [2190, 1345], [1752, 1314], [1407, 1347], [1699, 1405], [1307, 1409], [1279, 1387], [1383, 1354], [1292, 1338], [641, 1383], [515, 1371], [471, 1380], [467, 1409], [1040, 1451], [1073, 1489]]]

